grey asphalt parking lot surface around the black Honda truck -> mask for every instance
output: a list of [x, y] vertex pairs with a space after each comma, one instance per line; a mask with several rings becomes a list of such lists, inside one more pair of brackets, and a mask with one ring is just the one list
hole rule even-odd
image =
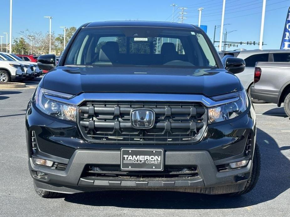
[[28, 171], [24, 129], [34, 88], [0, 90], [0, 216], [290, 216], [290, 120], [271, 103], [255, 104], [262, 164], [248, 194], [111, 191], [41, 198]]

